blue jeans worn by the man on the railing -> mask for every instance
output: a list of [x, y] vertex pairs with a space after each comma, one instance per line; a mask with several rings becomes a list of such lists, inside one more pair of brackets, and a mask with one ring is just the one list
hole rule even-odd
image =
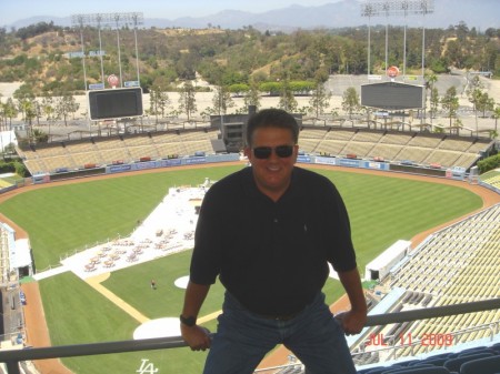
[[277, 344], [289, 348], [310, 374], [356, 373], [343, 331], [322, 293], [290, 321], [256, 315], [228, 292], [222, 312], [203, 374], [251, 374]]

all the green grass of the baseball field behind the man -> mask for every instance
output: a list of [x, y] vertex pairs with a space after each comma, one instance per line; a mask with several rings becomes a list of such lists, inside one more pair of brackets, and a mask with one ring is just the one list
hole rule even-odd
[[[0, 204], [0, 212], [30, 234], [38, 269], [86, 245], [127, 235], [162, 200], [169, 186], [218, 180], [241, 166], [213, 166], [54, 185], [29, 191]], [[399, 239], [413, 235], [481, 206], [481, 199], [460, 188], [366, 175], [319, 171], [340, 190], [348, 208], [361, 273], [364, 265]], [[113, 272], [103, 285], [150, 319], [177, 316], [183, 291], [173, 285], [188, 274], [191, 251]], [[154, 279], [158, 290], [150, 289]], [[131, 338], [137, 321], [82, 282], [66, 273], [40, 282], [53, 345]], [[338, 282], [324, 287], [331, 303], [342, 293]], [[201, 314], [220, 309], [223, 290], [216, 284]], [[216, 322], [207, 324], [216, 328]], [[187, 348], [63, 360], [76, 373], [134, 372], [149, 358], [161, 373], [199, 373], [204, 353]]]

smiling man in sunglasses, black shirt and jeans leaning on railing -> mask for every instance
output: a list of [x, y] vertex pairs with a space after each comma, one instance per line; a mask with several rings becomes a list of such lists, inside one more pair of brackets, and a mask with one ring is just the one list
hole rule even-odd
[[[247, 125], [251, 166], [208, 190], [194, 236], [181, 320], [191, 350], [210, 348], [204, 374], [250, 374], [283, 344], [311, 374], [356, 373], [344, 334], [357, 334], [367, 304], [348, 214], [334, 185], [294, 166], [299, 127], [267, 109]], [[331, 263], [351, 310], [333, 319], [321, 289]], [[196, 324], [217, 276], [227, 292], [218, 332]]]

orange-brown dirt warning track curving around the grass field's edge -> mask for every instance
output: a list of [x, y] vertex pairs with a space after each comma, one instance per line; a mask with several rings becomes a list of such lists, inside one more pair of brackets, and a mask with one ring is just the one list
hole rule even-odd
[[[194, 166], [182, 166], [182, 168], [210, 168], [210, 165], [194, 165]], [[326, 168], [326, 169], [332, 169], [332, 166], [328, 166], [328, 165], [314, 165], [313, 168]], [[174, 170], [177, 168], [173, 169], [163, 169], [163, 170], [148, 170], [148, 171], [140, 171], [141, 173], [150, 173], [150, 172], [168, 172], [170, 170]], [[354, 169], [344, 169], [344, 168], [339, 168], [339, 166], [334, 166], [336, 170], [344, 170], [344, 171], [349, 171], [349, 172], [356, 172], [356, 173], [371, 173], [371, 174], [378, 174], [380, 175], [380, 171], [368, 171], [368, 170], [354, 170]], [[382, 172], [384, 173], [384, 172]], [[418, 176], [418, 175], [409, 175], [409, 174], [402, 174], [402, 173], [391, 173], [390, 174], [393, 178], [402, 178], [402, 179], [413, 179], [413, 180], [426, 180], [429, 181], [429, 178], [426, 176]], [[118, 178], [121, 175], [106, 175], [106, 176], [96, 176], [96, 180], [100, 180], [102, 178]], [[93, 176], [92, 176], [93, 179]], [[68, 180], [68, 181], [60, 181], [60, 182], [56, 182], [57, 185], [60, 184], [69, 184], [69, 183], [79, 183], [82, 180]], [[84, 181], [89, 181], [89, 179], [84, 179]], [[466, 189], [470, 189], [472, 192], [474, 192], [476, 194], [480, 195], [482, 198], [483, 201], [483, 208], [488, 208], [488, 206], [492, 206], [494, 204], [498, 204], [500, 202], [500, 195], [494, 193], [493, 191], [483, 189], [479, 185], [471, 185], [464, 182], [460, 182], [460, 181], [453, 181], [453, 180], [446, 180], [446, 179], [432, 179], [432, 182], [434, 183], [444, 183], [444, 184], [452, 184], [456, 186], [461, 186], [461, 188], [466, 188]], [[48, 183], [48, 184], [39, 184], [39, 185], [29, 185], [29, 186], [24, 186], [22, 189], [17, 189], [14, 191], [8, 192], [6, 194], [0, 195], [0, 201], [6, 200], [6, 199], [10, 199], [13, 195], [18, 194], [18, 193], [23, 193], [33, 189], [43, 189], [43, 188], [51, 188], [53, 186], [54, 183]], [[0, 220], [3, 222], [7, 222], [9, 225], [11, 225], [17, 234], [18, 237], [27, 237], [27, 233], [22, 230], [22, 228], [16, 225], [14, 222], [8, 220], [7, 218], [0, 215]], [[459, 221], [460, 219], [456, 220]], [[144, 221], [146, 222], [146, 221]], [[143, 222], [143, 223], [144, 223]], [[142, 223], [142, 224], [143, 224]], [[187, 228], [190, 228], [191, 222], [188, 223]], [[449, 223], [448, 223], [449, 224]], [[448, 225], [447, 224], [447, 225]], [[412, 239], [412, 246], [414, 247], [418, 243], [420, 243], [424, 237], [427, 237], [430, 233], [442, 229], [446, 225], [441, 225], [439, 228], [434, 228], [433, 230], [429, 230], [428, 232], [423, 232], [419, 235], [417, 235], [416, 237]], [[154, 225], [153, 225], [154, 228]], [[153, 229], [151, 229], [153, 230]], [[154, 232], [156, 234], [156, 232]], [[84, 273], [82, 273], [84, 274]], [[93, 275], [96, 275], [97, 273], [94, 273]], [[50, 346], [50, 336], [49, 336], [49, 332], [48, 332], [48, 327], [44, 324], [44, 317], [43, 317], [43, 309], [42, 309], [42, 304], [41, 304], [41, 300], [40, 300], [40, 294], [38, 291], [38, 283], [37, 282], [30, 282], [30, 283], [24, 283], [22, 284], [22, 290], [24, 291], [24, 293], [27, 294], [27, 299], [29, 300], [28, 305], [26, 306], [26, 323], [28, 326], [28, 344], [30, 344], [31, 346], [34, 347], [42, 347], [42, 346]], [[341, 299], [337, 304], [332, 305], [332, 311], [334, 313], [340, 312], [342, 310], [348, 309], [349, 305], [346, 303], [344, 299]], [[289, 352], [283, 348], [283, 347], [279, 347], [273, 354], [269, 355], [259, 367], [271, 367], [274, 365], [281, 365], [281, 364], [286, 364], [289, 362]], [[69, 374], [71, 373], [70, 371], [68, 371], [61, 363], [59, 360], [44, 360], [44, 361], [39, 361], [37, 362], [37, 366], [40, 370], [41, 373], [63, 373], [63, 374]]]

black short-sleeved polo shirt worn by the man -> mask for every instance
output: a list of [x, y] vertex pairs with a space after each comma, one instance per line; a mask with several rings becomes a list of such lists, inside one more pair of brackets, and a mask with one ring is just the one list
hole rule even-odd
[[328, 262], [353, 270], [349, 219], [336, 186], [294, 168], [287, 192], [273, 202], [246, 168], [207, 192], [198, 219], [190, 279], [221, 283], [250, 311], [301, 311], [322, 289]]

